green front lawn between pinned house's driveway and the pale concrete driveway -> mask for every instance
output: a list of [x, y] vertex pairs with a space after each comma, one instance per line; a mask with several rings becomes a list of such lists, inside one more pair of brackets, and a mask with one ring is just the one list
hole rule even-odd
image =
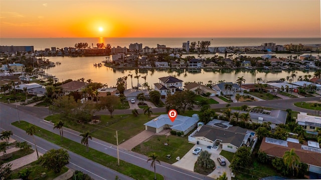
[[[187, 137], [169, 135], [168, 139], [169, 145], [165, 145], [164, 143], [167, 143], [166, 135], [154, 135], [131, 150], [145, 155], [155, 152], [159, 156], [159, 160], [171, 164], [177, 161], [177, 156], [182, 158], [186, 153], [192, 153], [189, 150], [194, 144], [189, 143]], [[172, 155], [171, 159], [166, 158], [167, 154]]]

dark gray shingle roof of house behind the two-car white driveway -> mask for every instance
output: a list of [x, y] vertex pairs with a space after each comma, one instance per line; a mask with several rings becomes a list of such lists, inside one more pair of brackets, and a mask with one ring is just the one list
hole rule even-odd
[[197, 132], [194, 137], [206, 137], [212, 141], [216, 139], [222, 140], [221, 143], [230, 143], [236, 147], [240, 147], [243, 143], [244, 137], [249, 132], [247, 129], [238, 126], [232, 126], [227, 129], [204, 125], [201, 127], [199, 132]]

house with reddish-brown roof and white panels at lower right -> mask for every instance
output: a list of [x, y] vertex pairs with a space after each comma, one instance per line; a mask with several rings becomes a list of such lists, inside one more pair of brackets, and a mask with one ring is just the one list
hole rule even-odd
[[308, 165], [308, 171], [321, 174], [321, 149], [317, 142], [308, 141], [308, 145], [298, 143], [298, 141], [285, 141], [264, 137], [260, 146], [260, 151], [269, 156], [282, 158], [285, 151], [295, 149], [295, 154], [300, 157], [300, 161]]

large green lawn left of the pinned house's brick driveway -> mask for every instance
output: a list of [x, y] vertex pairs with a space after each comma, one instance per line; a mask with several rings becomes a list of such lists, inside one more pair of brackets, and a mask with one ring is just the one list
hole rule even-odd
[[53, 123], [62, 120], [65, 123], [64, 126], [67, 128], [81, 133], [90, 131], [91, 136], [116, 144], [116, 138], [114, 137], [114, 135], [116, 135], [116, 130], [118, 130], [119, 139], [127, 140], [143, 131], [145, 129], [143, 124], [153, 118], [148, 118], [147, 115], [144, 114], [139, 114], [137, 117], [134, 117], [132, 114], [113, 115], [113, 118], [110, 118], [109, 115], [101, 115], [100, 117], [101, 121], [98, 124], [79, 123], [67, 120], [64, 117], [60, 118], [60, 115], [51, 115], [46, 117], [45, 120]]

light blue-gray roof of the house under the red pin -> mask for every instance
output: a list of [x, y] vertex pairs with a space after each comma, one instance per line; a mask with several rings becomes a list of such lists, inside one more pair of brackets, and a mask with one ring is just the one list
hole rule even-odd
[[195, 125], [199, 121], [198, 118], [189, 117], [189, 116], [182, 116], [177, 115], [174, 122], [171, 121], [168, 114], [162, 114], [148, 122], [146, 122], [144, 125], [154, 128], [162, 127], [166, 124], [172, 126], [171, 129], [177, 130], [177, 131], [185, 131], [191, 126]]

